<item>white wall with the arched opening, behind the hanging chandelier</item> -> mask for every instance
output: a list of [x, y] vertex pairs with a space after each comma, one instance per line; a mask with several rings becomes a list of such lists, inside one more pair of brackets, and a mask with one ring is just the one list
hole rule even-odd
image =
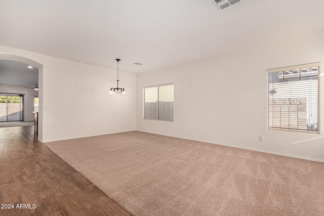
[[[110, 88], [117, 84], [116, 70], [4, 46], [0, 46], [0, 53], [21, 56], [42, 65], [39, 70], [42, 142], [136, 129], [135, 74], [119, 71], [119, 84], [128, 94], [110, 95]], [[89, 101], [93, 103], [90, 108]]]

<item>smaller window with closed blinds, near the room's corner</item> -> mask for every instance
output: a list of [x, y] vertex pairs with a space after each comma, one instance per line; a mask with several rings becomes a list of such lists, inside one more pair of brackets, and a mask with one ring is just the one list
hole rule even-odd
[[143, 118], [173, 121], [173, 83], [144, 87]]

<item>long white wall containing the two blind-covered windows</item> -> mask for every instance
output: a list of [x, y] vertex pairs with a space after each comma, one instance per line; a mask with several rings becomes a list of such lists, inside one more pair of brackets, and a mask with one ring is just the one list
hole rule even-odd
[[[322, 38], [324, 31], [139, 74], [137, 130], [324, 162], [324, 126], [320, 135], [267, 130], [267, 69], [323, 63]], [[320, 77], [324, 85], [324, 75]], [[142, 88], [171, 82], [174, 122], [143, 120]], [[320, 101], [323, 114], [322, 87]]]

